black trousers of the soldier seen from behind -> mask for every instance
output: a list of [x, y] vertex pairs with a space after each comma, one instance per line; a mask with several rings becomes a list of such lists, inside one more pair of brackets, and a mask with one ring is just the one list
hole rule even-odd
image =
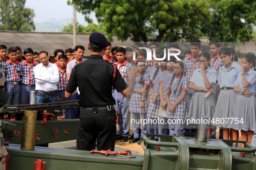
[[78, 126], [77, 149], [114, 151], [116, 138], [115, 110], [81, 110]]

